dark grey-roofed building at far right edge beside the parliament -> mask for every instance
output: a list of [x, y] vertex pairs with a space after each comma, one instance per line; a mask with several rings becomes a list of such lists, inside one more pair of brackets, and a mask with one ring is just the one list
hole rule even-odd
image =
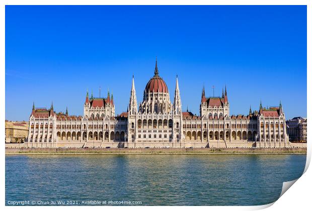
[[289, 136], [289, 141], [306, 142], [306, 121], [306, 118], [300, 116], [286, 121], [286, 129]]

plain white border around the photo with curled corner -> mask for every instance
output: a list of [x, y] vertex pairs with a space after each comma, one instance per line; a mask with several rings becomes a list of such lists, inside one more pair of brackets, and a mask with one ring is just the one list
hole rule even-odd
[[[204, 0], [193, 0], [193, 1], [164, 1], [164, 0], [154, 0], [154, 1], [140, 1], [140, 0], [133, 0], [133, 1], [125, 1], [125, 0], [106, 0], [106, 1], [100, 1], [100, 0], [47, 0], [47, 1], [38, 1], [38, 0], [12, 0], [12, 1], [1, 1], [1, 7], [0, 7], [0, 38], [1, 38], [1, 52], [0, 52], [0, 65], [1, 65], [1, 75], [0, 77], [0, 86], [1, 86], [1, 99], [5, 100], [5, 5], [307, 5], [307, 117], [309, 119], [312, 103], [311, 103], [311, 96], [309, 94], [311, 93], [311, 1], [305, 1], [305, 0], [297, 0], [297, 1], [290, 1], [290, 0], [263, 0], [263, 1], [244, 1], [244, 0], [220, 0], [220, 1], [204, 1]], [[0, 127], [2, 128], [1, 131], [1, 137], [5, 137], [5, 103], [0, 104], [1, 110], [3, 112], [0, 112], [2, 116], [2, 120], [0, 121]], [[307, 133], [308, 140], [310, 140], [310, 133]], [[4, 139], [4, 138], [3, 138]], [[3, 153], [2, 158], [3, 162], [1, 164], [2, 174], [1, 174], [1, 204], [5, 206], [5, 144], [3, 141]], [[308, 164], [310, 162], [310, 156], [311, 156], [311, 144], [309, 144], [308, 141], [308, 150], [307, 150], [307, 162], [305, 166], [305, 171], [307, 170]], [[296, 184], [291, 187], [288, 191], [283, 194], [283, 196], [278, 199], [273, 206], [271, 206], [269, 209], [271, 210], [305, 210], [310, 207], [310, 188], [311, 188], [311, 170], [306, 171], [297, 181]], [[273, 203], [272, 203], [273, 204]], [[182, 206], [178, 207], [182, 210], [187, 209], [197, 209], [197, 210], [255, 210], [255, 209], [262, 209], [265, 207], [268, 207], [272, 204], [262, 205], [262, 206]], [[41, 210], [42, 207], [38, 206], [6, 206], [5, 207], [8, 210], [16, 210], [16, 209], [24, 209], [24, 210]], [[53, 210], [56, 207], [50, 206], [50, 207], [44, 207], [48, 210]], [[131, 207], [123, 207], [123, 206], [83, 206], [83, 207], [57, 207], [57, 209], [67, 209], [67, 208], [74, 208], [76, 210], [85, 210], [85, 209], [97, 209], [97, 210], [103, 210], [103, 209], [110, 209], [110, 210], [119, 210], [119, 209], [128, 209], [128, 210], [145, 210], [148, 208], [149, 210], [159, 210], [161, 209], [169, 209], [172, 208], [172, 206], [131, 206]], [[177, 207], [176, 207], [177, 208]]]

